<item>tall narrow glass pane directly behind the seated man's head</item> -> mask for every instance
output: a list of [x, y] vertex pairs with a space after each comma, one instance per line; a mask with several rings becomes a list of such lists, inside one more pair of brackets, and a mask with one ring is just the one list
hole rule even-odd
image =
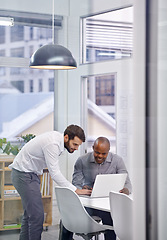
[[116, 75], [87, 76], [84, 81], [87, 81], [87, 91], [83, 91], [87, 94], [87, 151], [92, 151], [92, 144], [97, 137], [105, 136], [110, 140], [110, 150], [116, 153]]

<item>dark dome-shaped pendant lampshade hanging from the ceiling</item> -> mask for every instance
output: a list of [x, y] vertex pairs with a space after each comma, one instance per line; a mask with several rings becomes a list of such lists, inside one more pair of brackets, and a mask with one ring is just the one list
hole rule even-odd
[[77, 63], [71, 52], [61, 45], [44, 45], [30, 59], [30, 68], [67, 70], [76, 67]]

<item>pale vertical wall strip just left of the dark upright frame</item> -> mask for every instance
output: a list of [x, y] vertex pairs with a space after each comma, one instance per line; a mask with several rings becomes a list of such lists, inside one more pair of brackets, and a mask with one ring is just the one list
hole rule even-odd
[[134, 52], [133, 52], [133, 125], [131, 157], [134, 194], [134, 239], [146, 239], [145, 221], [145, 0], [134, 0]]

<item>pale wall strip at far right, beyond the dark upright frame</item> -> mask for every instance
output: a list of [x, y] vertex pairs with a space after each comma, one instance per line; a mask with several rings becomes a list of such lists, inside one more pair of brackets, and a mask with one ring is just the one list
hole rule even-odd
[[[167, 2], [158, 1], [158, 239], [166, 238], [167, 222]], [[155, 193], [156, 194], [156, 193]]]

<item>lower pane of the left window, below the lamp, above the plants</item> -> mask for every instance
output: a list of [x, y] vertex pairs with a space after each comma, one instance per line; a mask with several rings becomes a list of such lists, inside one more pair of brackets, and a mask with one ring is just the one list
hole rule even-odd
[[0, 138], [17, 140], [20, 135], [53, 130], [54, 94], [49, 84], [54, 71], [1, 69], [5, 74], [0, 75]]

